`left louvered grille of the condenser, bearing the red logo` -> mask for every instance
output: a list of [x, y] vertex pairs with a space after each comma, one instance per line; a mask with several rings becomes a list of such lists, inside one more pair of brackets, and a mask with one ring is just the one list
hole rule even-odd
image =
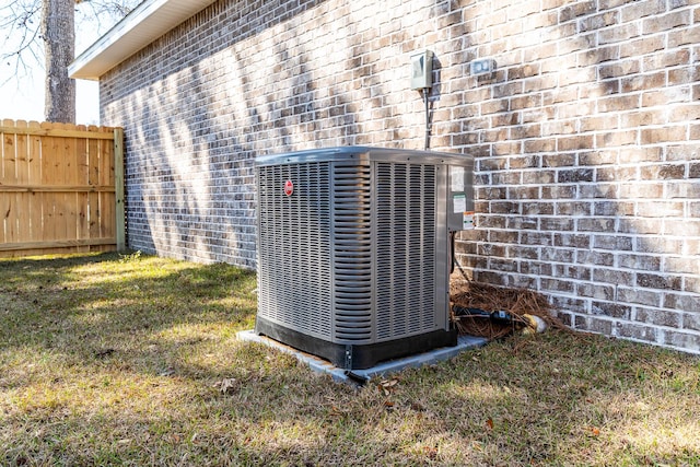
[[258, 172], [258, 261], [270, 265], [258, 270], [258, 315], [323, 339], [331, 337], [329, 174], [327, 162]]

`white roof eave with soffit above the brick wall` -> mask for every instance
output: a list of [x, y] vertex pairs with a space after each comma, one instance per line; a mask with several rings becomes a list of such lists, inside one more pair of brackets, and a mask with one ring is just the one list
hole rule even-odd
[[145, 0], [68, 67], [70, 78], [100, 80], [147, 45], [215, 0]]

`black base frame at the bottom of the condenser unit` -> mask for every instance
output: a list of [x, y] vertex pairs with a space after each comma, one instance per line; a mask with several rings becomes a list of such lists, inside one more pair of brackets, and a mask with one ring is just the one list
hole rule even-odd
[[334, 343], [260, 317], [255, 320], [255, 331], [304, 352], [320, 355], [334, 365], [346, 370], [369, 369], [385, 360], [457, 345], [456, 329], [439, 329], [411, 338], [365, 345]]

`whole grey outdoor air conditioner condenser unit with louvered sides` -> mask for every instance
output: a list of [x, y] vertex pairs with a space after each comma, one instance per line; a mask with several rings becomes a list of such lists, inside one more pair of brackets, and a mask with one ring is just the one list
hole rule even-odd
[[256, 332], [346, 369], [454, 346], [448, 231], [472, 167], [366, 147], [257, 159]]

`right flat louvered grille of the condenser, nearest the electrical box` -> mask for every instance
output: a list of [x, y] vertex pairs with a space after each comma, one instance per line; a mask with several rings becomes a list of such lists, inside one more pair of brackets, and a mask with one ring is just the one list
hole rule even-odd
[[377, 163], [376, 338], [434, 329], [435, 167]]

